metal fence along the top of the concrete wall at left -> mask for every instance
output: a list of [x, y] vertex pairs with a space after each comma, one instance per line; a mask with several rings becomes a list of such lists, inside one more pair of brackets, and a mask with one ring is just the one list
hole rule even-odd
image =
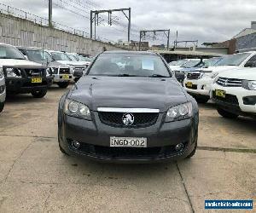
[[[4, 3], [0, 3], [0, 13], [9, 14], [9, 15], [19, 17], [19, 18], [25, 19], [25, 20], [30, 20], [30, 21], [34, 22], [35, 24], [38, 24], [41, 26], [49, 26], [48, 19], [40, 17], [36, 14], [28, 13], [21, 9], [15, 9], [9, 5], [4, 4]], [[78, 35], [78, 36], [85, 37], [85, 38], [90, 38], [90, 34], [88, 32], [84, 32], [84, 31], [75, 29], [70, 26], [61, 25], [60, 23], [57, 23], [57, 22], [53, 22], [53, 27], [55, 29], [58, 29], [58, 30], [61, 30], [64, 32], [69, 32], [74, 35]], [[108, 40], [107, 38], [102, 38], [102, 37], [99, 37], [99, 39], [97, 39], [97, 40], [103, 41], [103, 42], [110, 42], [110, 40]]]

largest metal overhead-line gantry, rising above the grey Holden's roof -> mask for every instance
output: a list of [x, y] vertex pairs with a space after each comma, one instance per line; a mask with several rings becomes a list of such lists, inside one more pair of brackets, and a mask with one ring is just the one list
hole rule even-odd
[[[125, 11], [128, 11], [128, 15], [125, 14]], [[93, 34], [93, 23], [94, 23], [94, 39], [96, 39], [96, 26], [99, 25], [99, 14], [107, 13], [108, 14], [108, 25], [112, 26], [113, 12], [122, 12], [125, 15], [125, 18], [128, 20], [128, 37], [127, 40], [130, 42], [131, 35], [131, 8], [128, 9], [103, 9], [103, 10], [90, 10], [90, 39], [92, 39]]]

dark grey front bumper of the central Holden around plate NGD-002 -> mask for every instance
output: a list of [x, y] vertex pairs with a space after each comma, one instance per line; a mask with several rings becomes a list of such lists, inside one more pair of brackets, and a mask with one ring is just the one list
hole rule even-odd
[[[163, 114], [152, 126], [135, 129], [102, 124], [97, 115], [94, 121], [63, 115], [59, 124], [59, 142], [70, 155], [103, 161], [146, 163], [186, 158], [195, 148], [195, 122], [186, 119], [162, 124], [162, 119]], [[147, 147], [110, 147], [110, 136], [146, 137]], [[79, 141], [81, 148], [73, 149], [71, 141]], [[181, 151], [175, 150], [178, 143], [184, 144]]]

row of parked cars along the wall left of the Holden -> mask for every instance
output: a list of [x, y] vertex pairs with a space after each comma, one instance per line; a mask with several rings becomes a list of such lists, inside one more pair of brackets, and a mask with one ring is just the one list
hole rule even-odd
[[0, 112], [7, 94], [31, 93], [42, 98], [52, 83], [67, 88], [79, 80], [73, 73], [85, 72], [90, 60], [77, 54], [0, 43]]

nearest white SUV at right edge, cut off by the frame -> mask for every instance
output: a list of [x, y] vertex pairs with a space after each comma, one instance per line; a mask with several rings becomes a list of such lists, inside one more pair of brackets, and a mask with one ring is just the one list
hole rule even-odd
[[256, 68], [220, 73], [212, 84], [211, 97], [224, 118], [256, 118]]

